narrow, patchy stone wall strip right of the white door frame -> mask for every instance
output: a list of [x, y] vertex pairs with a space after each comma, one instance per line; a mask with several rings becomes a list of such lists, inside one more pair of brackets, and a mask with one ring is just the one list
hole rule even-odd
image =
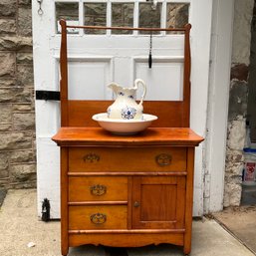
[[224, 189], [225, 207], [237, 206], [241, 199], [253, 6], [254, 0], [235, 0]]

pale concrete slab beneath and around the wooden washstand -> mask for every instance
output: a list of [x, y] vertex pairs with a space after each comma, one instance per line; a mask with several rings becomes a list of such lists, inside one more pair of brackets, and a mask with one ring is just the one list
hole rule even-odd
[[[29, 248], [28, 243], [35, 243]], [[0, 256], [59, 256], [60, 222], [42, 222], [36, 212], [36, 190], [10, 190], [0, 210]], [[72, 248], [69, 256], [107, 256], [104, 247]], [[170, 245], [128, 248], [128, 256], [179, 256]], [[190, 256], [253, 256], [216, 221], [193, 222]]]

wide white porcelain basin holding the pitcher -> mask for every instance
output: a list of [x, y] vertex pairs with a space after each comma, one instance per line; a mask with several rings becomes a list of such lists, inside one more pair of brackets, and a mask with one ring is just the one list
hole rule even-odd
[[128, 135], [148, 128], [154, 120], [157, 120], [157, 117], [143, 114], [141, 120], [118, 120], [109, 119], [107, 113], [101, 113], [94, 115], [92, 119], [98, 122], [102, 128], [113, 133]]

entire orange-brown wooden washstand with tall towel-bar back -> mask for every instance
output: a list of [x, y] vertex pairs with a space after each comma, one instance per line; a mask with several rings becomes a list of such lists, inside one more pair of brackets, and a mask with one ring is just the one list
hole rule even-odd
[[[64, 20], [61, 26], [61, 128], [52, 139], [61, 147], [62, 254], [83, 244], [160, 243], [183, 246], [189, 254], [194, 147], [203, 140], [189, 128], [191, 26], [107, 28], [67, 26]], [[183, 100], [144, 102], [144, 113], [158, 120], [136, 135], [99, 128], [92, 116], [106, 112], [111, 101], [68, 99], [67, 28], [183, 32]]]

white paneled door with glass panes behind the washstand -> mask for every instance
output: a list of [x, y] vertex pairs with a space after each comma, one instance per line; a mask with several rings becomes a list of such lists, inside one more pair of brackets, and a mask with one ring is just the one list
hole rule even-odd
[[[155, 1], [154, 1], [155, 2]], [[33, 1], [35, 90], [59, 91], [60, 33], [58, 20], [68, 24], [162, 27], [187, 21], [191, 30], [191, 116], [190, 124], [205, 134], [211, 0], [162, 0], [152, 3], [131, 0], [44, 0]], [[40, 9], [41, 8], [41, 9]], [[38, 10], [40, 10], [38, 12]], [[149, 17], [149, 19], [148, 19]], [[99, 34], [100, 33], [100, 34]], [[72, 30], [68, 35], [69, 98], [109, 100], [106, 87], [112, 81], [132, 86], [135, 78], [147, 84], [145, 100], [182, 99], [183, 36], [165, 32], [152, 35], [151, 69], [148, 68], [150, 36], [137, 31]], [[169, 87], [169, 85], [172, 87]], [[139, 94], [139, 93], [138, 93]], [[59, 218], [59, 148], [51, 141], [60, 127], [59, 103], [36, 101], [38, 214], [44, 198], [51, 204], [51, 218]], [[194, 215], [203, 213], [202, 145], [196, 149]]]

